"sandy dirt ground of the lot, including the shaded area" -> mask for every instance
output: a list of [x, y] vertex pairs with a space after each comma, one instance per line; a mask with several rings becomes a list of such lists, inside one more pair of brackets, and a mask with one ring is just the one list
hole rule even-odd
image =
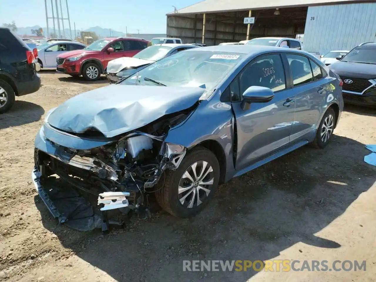
[[[331, 144], [305, 146], [221, 185], [197, 217], [155, 212], [123, 230], [59, 225], [31, 182], [34, 137], [45, 114], [106, 86], [41, 72], [42, 87], [0, 115], [0, 280], [375, 281], [376, 110], [346, 106]], [[85, 106], [85, 105], [83, 105]], [[367, 261], [366, 271], [183, 272], [183, 260]]]

